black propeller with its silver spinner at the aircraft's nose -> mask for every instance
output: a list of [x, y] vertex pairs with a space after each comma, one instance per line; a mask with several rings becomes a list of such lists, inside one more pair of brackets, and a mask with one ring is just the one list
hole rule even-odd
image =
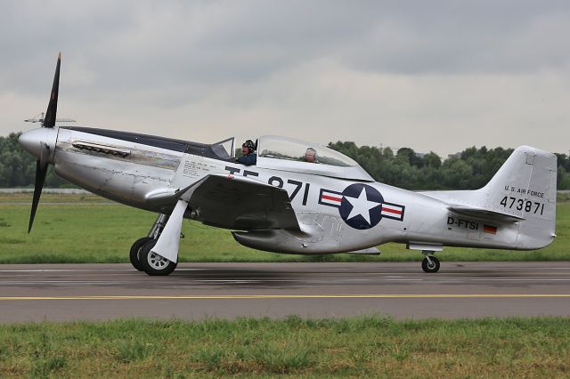
[[53, 128], [57, 115], [57, 99], [60, 88], [60, 67], [61, 52], [57, 57], [57, 66], [55, 67], [55, 76], [53, 77], [52, 93], [50, 101], [45, 111], [44, 122], [41, 128], [33, 129], [26, 133], [22, 133], [19, 138], [20, 145], [30, 154], [37, 157], [36, 161], [36, 183], [34, 186], [34, 198], [32, 199], [32, 209], [29, 215], [28, 233], [32, 230], [34, 217], [36, 216], [39, 198], [44, 188], [45, 174], [47, 173], [47, 165], [53, 163], [53, 151], [55, 150], [55, 142], [57, 140], [57, 130]]

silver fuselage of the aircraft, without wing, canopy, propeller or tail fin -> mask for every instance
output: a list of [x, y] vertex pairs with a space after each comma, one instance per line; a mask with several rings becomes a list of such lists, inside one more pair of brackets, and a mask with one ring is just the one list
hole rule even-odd
[[[301, 231], [246, 230], [243, 245], [297, 254], [359, 250], [386, 242], [418, 249], [441, 246], [506, 246], [516, 224], [501, 225], [501, 241], [485, 233], [485, 220], [453, 214], [435, 198], [379, 182], [349, 181], [290, 173], [207, 157], [207, 145], [142, 134], [60, 127], [53, 155], [61, 177], [104, 198], [151, 212], [170, 214], [172, 194], [211, 173], [241, 175], [286, 189]], [[186, 218], [208, 222], [192, 216]], [[509, 230], [510, 229], [510, 230]], [[509, 242], [507, 243], [509, 244]], [[422, 247], [423, 246], [423, 247]], [[426, 247], [427, 246], [427, 247]]]

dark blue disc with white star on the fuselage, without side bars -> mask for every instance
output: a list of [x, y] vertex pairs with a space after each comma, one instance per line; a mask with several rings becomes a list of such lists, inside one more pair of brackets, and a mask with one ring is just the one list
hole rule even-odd
[[370, 229], [382, 220], [384, 198], [374, 187], [362, 183], [351, 184], [342, 191], [338, 212], [354, 229]]

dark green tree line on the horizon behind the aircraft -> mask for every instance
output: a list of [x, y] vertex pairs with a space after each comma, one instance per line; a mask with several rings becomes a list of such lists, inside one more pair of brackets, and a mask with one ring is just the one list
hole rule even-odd
[[[0, 136], [0, 187], [33, 187], [36, 158], [20, 148], [20, 133]], [[413, 149], [356, 146], [351, 141], [330, 143], [329, 147], [352, 157], [377, 180], [403, 189], [478, 189], [489, 181], [512, 149], [471, 147], [442, 159], [433, 151], [417, 154]], [[558, 157], [558, 189], [570, 189], [570, 157]], [[53, 173], [50, 165], [46, 188], [73, 187]]]

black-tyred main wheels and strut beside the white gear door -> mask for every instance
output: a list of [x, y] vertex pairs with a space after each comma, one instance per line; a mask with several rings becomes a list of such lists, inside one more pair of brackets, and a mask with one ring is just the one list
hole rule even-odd
[[134, 241], [133, 246], [131, 246], [129, 258], [136, 270], [144, 271], [149, 275], [168, 275], [175, 270], [175, 262], [170, 262], [159, 254], [151, 252], [162, 230], [164, 230], [168, 218], [169, 216], [167, 214], [159, 214], [157, 220], [152, 224], [149, 235]]

